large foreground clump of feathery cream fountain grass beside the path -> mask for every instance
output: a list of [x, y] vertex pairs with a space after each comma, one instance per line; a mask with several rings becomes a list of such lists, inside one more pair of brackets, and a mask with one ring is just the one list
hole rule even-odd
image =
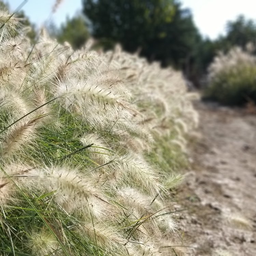
[[[165, 198], [198, 122], [181, 74], [119, 46], [74, 52], [44, 30], [33, 46], [15, 17], [8, 22], [0, 254], [160, 255], [176, 227]], [[13, 40], [18, 49], [6, 47]]]

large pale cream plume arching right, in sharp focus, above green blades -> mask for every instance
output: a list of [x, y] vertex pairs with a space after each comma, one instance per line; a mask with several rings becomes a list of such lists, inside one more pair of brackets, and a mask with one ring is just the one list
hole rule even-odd
[[128, 110], [122, 96], [115, 95], [110, 89], [95, 85], [94, 81], [88, 79], [59, 84], [56, 97], [59, 97], [64, 108], [81, 115], [92, 126], [103, 127]]

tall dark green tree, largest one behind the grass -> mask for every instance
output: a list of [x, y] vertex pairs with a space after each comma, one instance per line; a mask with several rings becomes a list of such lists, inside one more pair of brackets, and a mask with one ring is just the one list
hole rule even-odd
[[[200, 40], [189, 10], [175, 0], [83, 0], [95, 38], [183, 67]], [[111, 45], [109, 43], [109, 45]]]

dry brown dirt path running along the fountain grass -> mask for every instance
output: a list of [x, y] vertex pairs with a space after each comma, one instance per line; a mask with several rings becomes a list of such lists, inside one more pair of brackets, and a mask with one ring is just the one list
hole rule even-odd
[[[174, 255], [256, 256], [256, 115], [196, 103], [201, 138], [177, 191]], [[183, 252], [183, 253], [182, 253]]]

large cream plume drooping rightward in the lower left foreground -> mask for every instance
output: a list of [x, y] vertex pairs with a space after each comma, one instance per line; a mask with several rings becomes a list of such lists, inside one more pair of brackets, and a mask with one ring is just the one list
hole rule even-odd
[[[56, 191], [53, 200], [67, 212], [83, 207], [93, 210], [95, 198], [104, 200], [96, 182], [94, 183], [90, 176], [64, 166], [32, 169], [23, 184], [26, 187], [39, 188], [44, 193]], [[98, 204], [95, 208], [95, 215], [99, 215], [99, 206]], [[88, 212], [87, 209], [85, 210]]]

